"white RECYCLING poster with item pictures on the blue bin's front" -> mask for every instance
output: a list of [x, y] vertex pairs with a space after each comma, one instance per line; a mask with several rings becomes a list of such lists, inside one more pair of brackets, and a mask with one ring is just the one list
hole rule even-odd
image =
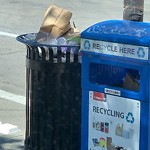
[[139, 150], [140, 101], [89, 91], [88, 150]]

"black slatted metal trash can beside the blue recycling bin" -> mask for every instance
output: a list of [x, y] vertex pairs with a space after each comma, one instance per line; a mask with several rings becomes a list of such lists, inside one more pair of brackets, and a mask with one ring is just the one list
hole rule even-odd
[[[79, 46], [43, 45], [34, 41], [35, 35], [17, 37], [27, 47], [25, 150], [79, 150]], [[65, 62], [62, 49], [66, 50]]]

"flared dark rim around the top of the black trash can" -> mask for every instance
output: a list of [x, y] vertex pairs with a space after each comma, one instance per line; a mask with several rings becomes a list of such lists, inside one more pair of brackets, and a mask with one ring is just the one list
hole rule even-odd
[[[80, 45], [48, 45], [48, 44], [42, 44], [42, 43], [38, 43], [37, 41], [35, 41], [35, 36], [37, 33], [28, 33], [28, 34], [22, 34], [16, 37], [16, 40], [29, 45], [29, 46], [35, 46], [35, 47], [76, 47], [79, 48]], [[29, 35], [31, 35], [32, 38], [29, 38]]]

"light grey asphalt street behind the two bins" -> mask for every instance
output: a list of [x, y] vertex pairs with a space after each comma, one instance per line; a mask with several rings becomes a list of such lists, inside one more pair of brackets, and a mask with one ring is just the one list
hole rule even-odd
[[[15, 37], [39, 31], [44, 13], [53, 3], [73, 13], [71, 23], [82, 32], [87, 27], [110, 19], [123, 18], [120, 0], [1, 0], [0, 5], [0, 122], [16, 125], [16, 133], [0, 133], [0, 150], [21, 150], [25, 134], [25, 57], [26, 47]], [[145, 0], [144, 21], [150, 21], [150, 1]], [[22, 96], [14, 102], [11, 94]]]

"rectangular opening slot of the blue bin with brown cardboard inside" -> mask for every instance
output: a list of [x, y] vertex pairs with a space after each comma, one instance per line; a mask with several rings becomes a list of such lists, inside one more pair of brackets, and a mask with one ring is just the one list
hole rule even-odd
[[93, 84], [120, 87], [131, 91], [140, 89], [140, 72], [135, 69], [90, 63], [89, 81]]

